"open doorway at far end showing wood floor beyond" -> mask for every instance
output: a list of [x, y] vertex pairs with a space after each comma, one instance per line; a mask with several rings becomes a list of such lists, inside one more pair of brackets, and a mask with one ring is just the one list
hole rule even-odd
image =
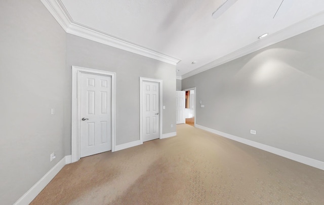
[[195, 127], [195, 88], [185, 91], [185, 123]]

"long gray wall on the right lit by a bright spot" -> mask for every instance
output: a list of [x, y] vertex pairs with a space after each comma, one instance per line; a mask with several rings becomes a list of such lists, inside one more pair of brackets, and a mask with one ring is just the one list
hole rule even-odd
[[197, 124], [324, 161], [323, 35], [322, 26], [182, 79], [206, 106]]

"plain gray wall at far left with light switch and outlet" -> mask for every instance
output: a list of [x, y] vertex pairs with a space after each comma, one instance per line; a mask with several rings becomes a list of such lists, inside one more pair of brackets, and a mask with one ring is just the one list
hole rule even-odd
[[0, 1], [0, 27], [0, 203], [13, 204], [65, 155], [66, 34], [36, 0]]

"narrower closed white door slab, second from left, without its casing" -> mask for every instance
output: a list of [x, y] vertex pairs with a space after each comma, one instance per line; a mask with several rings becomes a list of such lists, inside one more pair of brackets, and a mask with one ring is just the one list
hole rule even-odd
[[159, 83], [142, 82], [143, 141], [159, 138]]

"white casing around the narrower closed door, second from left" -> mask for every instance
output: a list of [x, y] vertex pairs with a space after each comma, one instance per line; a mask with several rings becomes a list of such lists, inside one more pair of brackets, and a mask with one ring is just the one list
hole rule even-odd
[[162, 130], [163, 130], [163, 80], [160, 79], [153, 79], [153, 78], [147, 78], [147, 77], [140, 77], [140, 142], [143, 144], [143, 98], [142, 98], [142, 84], [143, 81], [149, 81], [149, 82], [154, 82], [159, 84], [159, 122], [160, 122], [160, 127], [159, 127], [159, 139], [162, 138]]

